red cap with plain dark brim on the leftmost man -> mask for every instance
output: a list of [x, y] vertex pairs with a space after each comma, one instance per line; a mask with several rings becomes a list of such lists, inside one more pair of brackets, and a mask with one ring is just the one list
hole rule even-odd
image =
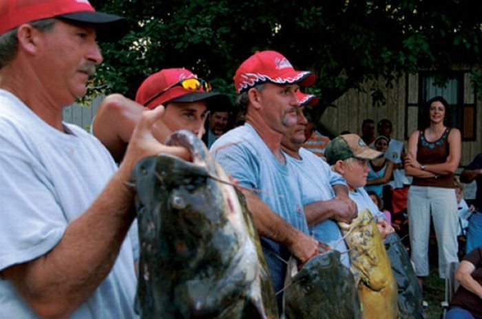
[[96, 12], [88, 0], [1, 0], [0, 34], [40, 19], [59, 18], [94, 26], [97, 37], [115, 41], [127, 33], [127, 20]]

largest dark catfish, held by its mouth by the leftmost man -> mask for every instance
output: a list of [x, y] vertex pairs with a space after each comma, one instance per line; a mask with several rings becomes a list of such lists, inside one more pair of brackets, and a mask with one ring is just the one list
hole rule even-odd
[[277, 318], [266, 261], [240, 193], [188, 131], [193, 161], [160, 154], [134, 169], [142, 318]]

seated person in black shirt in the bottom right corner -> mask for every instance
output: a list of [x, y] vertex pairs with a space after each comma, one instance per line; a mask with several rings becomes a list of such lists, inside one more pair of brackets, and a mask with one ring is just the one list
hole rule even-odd
[[459, 288], [450, 301], [446, 319], [482, 318], [482, 247], [479, 246], [466, 254], [455, 279]]

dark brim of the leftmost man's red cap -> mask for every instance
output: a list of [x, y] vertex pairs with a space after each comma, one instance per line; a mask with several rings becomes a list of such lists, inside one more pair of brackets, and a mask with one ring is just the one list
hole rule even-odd
[[123, 17], [95, 11], [61, 14], [56, 18], [77, 24], [93, 25], [98, 41], [112, 42], [121, 39], [129, 31], [129, 23]]

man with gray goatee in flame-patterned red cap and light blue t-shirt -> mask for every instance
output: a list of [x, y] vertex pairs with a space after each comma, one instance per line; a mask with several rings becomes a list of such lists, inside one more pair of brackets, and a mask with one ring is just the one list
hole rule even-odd
[[[282, 134], [297, 122], [298, 85], [314, 82], [314, 74], [296, 71], [282, 54], [256, 52], [234, 76], [246, 123], [211, 146], [215, 159], [244, 188], [275, 292], [282, 291], [290, 252], [304, 263], [320, 248], [308, 235], [297, 179], [281, 149]], [[277, 294], [278, 306], [281, 300]]]

